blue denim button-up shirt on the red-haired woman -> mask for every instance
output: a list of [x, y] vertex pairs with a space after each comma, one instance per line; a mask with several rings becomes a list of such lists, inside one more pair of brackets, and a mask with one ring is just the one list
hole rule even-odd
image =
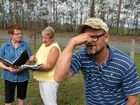
[[[14, 48], [11, 40], [8, 40], [7, 42], [3, 43], [0, 48], [0, 57], [3, 57], [12, 62], [17, 57], [19, 57], [24, 50], [27, 51], [30, 57], [31, 50], [28, 43], [26, 43], [25, 41], [21, 41], [18, 48]], [[2, 72], [2, 78], [11, 82], [24, 82], [29, 79], [29, 71], [23, 70], [19, 73], [12, 73], [9, 70], [4, 69]]]

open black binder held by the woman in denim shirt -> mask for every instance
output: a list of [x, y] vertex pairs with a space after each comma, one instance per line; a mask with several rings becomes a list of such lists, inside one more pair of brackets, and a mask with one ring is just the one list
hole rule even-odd
[[5, 64], [6, 66], [9, 67], [17, 67], [17, 66], [21, 66], [23, 64], [26, 63], [26, 61], [29, 59], [29, 55], [27, 53], [27, 51], [23, 51], [20, 56], [18, 58], [16, 58], [13, 62], [4, 59], [2, 57], [0, 57], [0, 62], [2, 62], [3, 64]]

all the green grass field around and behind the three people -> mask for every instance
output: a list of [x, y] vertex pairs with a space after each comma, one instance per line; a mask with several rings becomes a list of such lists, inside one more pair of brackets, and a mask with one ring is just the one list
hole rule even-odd
[[[2, 42], [0, 42], [1, 44]], [[140, 53], [135, 54], [135, 63], [140, 76]], [[0, 71], [1, 74], [1, 71]], [[32, 77], [30, 71], [30, 80], [28, 85], [27, 99], [25, 105], [43, 105], [38, 90], [38, 82]], [[76, 76], [63, 82], [58, 91], [58, 105], [83, 105], [83, 78], [79, 72]], [[4, 104], [4, 81], [0, 79], [0, 105]]]

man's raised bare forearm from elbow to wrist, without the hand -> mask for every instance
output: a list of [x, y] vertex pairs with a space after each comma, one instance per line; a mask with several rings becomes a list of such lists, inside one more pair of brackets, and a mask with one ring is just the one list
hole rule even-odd
[[72, 75], [69, 71], [69, 68], [74, 48], [75, 44], [72, 41], [69, 41], [62, 54], [60, 55], [56, 64], [55, 72], [55, 80], [57, 82], [62, 82]]

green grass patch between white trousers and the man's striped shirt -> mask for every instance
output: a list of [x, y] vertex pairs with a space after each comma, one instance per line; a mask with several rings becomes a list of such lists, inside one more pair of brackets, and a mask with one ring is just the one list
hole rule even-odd
[[83, 87], [81, 73], [62, 83], [58, 91], [58, 105], [83, 105]]

